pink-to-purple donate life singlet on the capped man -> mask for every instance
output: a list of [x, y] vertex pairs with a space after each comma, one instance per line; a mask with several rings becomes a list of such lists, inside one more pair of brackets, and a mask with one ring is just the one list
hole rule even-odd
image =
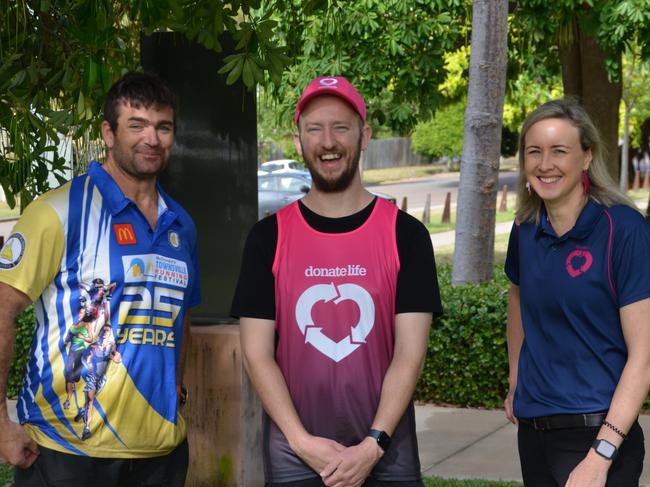
[[[397, 207], [377, 198], [368, 219], [347, 233], [322, 233], [298, 203], [277, 213], [276, 360], [307, 431], [345, 446], [366, 436], [393, 358], [399, 256]], [[313, 477], [265, 417], [266, 478]], [[419, 478], [412, 405], [373, 470], [379, 480]]]

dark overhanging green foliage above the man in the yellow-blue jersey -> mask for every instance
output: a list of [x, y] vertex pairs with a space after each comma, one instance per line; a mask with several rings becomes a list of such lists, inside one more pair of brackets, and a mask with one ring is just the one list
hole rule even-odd
[[50, 175], [63, 182], [71, 168], [59, 136], [87, 162], [105, 93], [139, 66], [142, 32], [183, 33], [215, 51], [228, 32], [238, 51], [220, 71], [228, 83], [279, 82], [289, 58], [272, 41], [275, 21], [253, 12], [259, 7], [259, 0], [0, 0], [0, 185], [9, 205], [49, 189]]

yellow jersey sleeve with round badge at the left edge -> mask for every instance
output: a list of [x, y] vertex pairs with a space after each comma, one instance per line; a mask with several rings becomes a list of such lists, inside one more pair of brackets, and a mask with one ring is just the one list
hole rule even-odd
[[45, 201], [32, 202], [0, 250], [0, 281], [35, 301], [59, 271], [65, 237]]

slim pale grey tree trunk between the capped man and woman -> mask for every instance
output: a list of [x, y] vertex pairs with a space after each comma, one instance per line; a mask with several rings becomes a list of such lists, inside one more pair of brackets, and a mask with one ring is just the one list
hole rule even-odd
[[475, 0], [452, 284], [492, 278], [508, 1]]

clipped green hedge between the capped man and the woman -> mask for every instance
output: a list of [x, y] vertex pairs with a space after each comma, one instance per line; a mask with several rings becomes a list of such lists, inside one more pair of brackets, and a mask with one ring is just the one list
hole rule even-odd
[[460, 406], [500, 407], [508, 390], [503, 266], [492, 282], [451, 286], [451, 266], [438, 267], [444, 315], [429, 336], [416, 399]]

